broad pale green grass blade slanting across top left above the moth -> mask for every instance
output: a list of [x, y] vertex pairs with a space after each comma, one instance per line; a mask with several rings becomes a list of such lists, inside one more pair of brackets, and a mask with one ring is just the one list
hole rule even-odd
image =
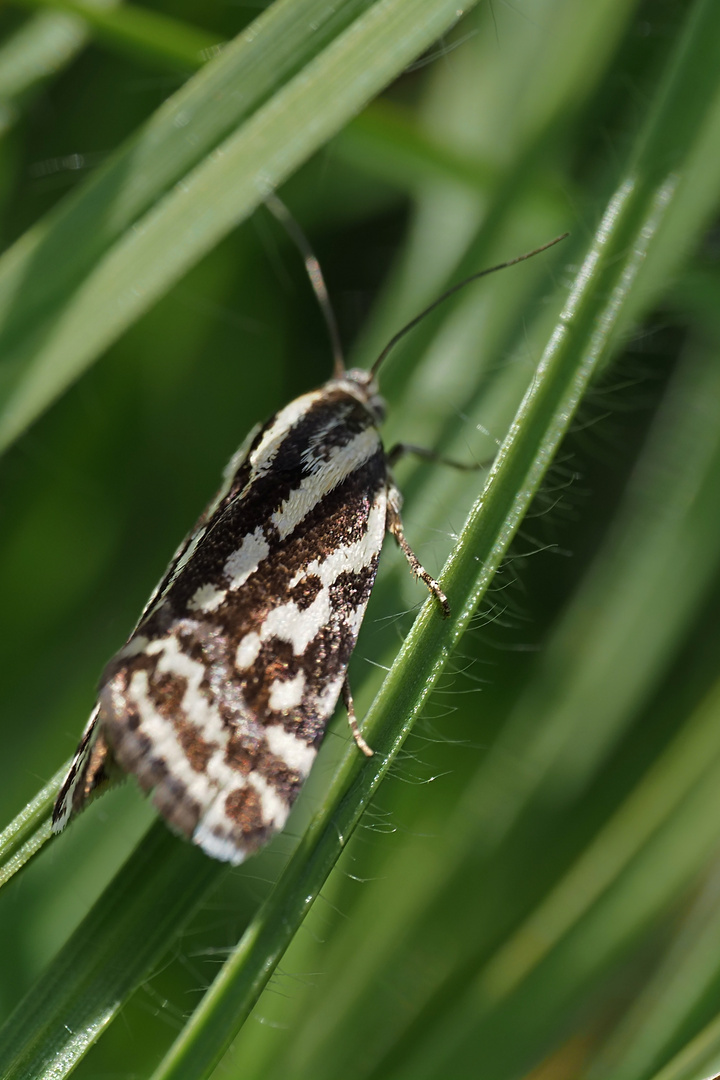
[[[326, 5], [276, 6], [167, 102], [83, 194], [0, 260], [0, 447], [457, 18], [449, 0], [347, 0], [321, 35], [311, 14], [327, 22]], [[350, 26], [340, 22], [363, 6]]]

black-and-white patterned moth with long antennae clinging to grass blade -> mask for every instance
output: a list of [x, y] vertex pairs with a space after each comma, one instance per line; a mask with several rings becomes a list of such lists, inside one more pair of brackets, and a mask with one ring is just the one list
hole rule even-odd
[[[305, 261], [320, 295], [311, 253]], [[54, 832], [132, 773], [171, 828], [237, 864], [285, 825], [341, 693], [358, 746], [372, 753], [347, 672], [386, 531], [449, 613], [405, 539], [392, 477], [394, 460], [417, 448], [386, 454], [378, 431], [378, 367], [426, 311], [370, 370], [345, 370], [336, 349], [334, 377], [256, 428], [231, 459], [101, 675]]]

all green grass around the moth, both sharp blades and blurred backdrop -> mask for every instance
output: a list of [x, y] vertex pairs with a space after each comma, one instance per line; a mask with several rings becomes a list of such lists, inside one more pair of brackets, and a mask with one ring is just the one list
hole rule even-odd
[[[3, 1078], [717, 1071], [717, 3], [31, 5], [0, 45]], [[398, 469], [452, 618], [389, 545], [351, 667], [376, 756], [337, 717], [239, 870], [130, 784], [46, 842], [96, 673], [246, 431], [327, 377], [281, 184], [361, 364], [572, 231], [383, 370], [389, 443], [494, 456]]]

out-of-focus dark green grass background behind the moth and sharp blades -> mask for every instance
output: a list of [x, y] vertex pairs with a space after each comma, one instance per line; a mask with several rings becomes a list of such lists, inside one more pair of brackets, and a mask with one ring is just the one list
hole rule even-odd
[[[0, 12], [8, 248], [191, 76], [168, 25], [133, 37], [112, 19], [90, 27], [69, 6]], [[264, 5], [145, 6], [187, 24], [188, 40], [196, 28], [206, 46]], [[707, 121], [616, 330], [615, 360], [218, 1076], [639, 1080], [665, 1069], [669, 1080], [714, 1069], [720, 38], [704, 68], [677, 55], [704, 6], [480, 4], [418, 63], [403, 60], [383, 97], [281, 189], [362, 364], [463, 273], [572, 232], [552, 255], [471, 286], [383, 372], [390, 444], [486, 461], [668, 65], [697, 64], [708, 87]], [[77, 252], [93, 239], [79, 233]], [[37, 307], [26, 300], [0, 338], [9, 400], [23, 342], [36, 324], [46, 332], [45, 311], [62, 323], [53, 289], [67, 283], [55, 286], [55, 274], [65, 259], [72, 267], [76, 239], [64, 244], [39, 262], [44, 300], [41, 291]], [[74, 748], [98, 673], [246, 432], [329, 375], [300, 259], [270, 215], [259, 208], [207, 246], [97, 347], [97, 364], [49, 391], [2, 460], [2, 824]], [[82, 283], [74, 272], [68, 296]], [[9, 302], [22, 308], [22, 291]], [[481, 480], [427, 464], [397, 473], [408, 538], [439, 571]], [[388, 544], [351, 666], [361, 715], [422, 599]], [[219, 878], [79, 1077], [152, 1074], [270, 892], [348, 738], [336, 717], [287, 833]], [[151, 821], [127, 784], [2, 890], [3, 1020], [42, 984]]]

